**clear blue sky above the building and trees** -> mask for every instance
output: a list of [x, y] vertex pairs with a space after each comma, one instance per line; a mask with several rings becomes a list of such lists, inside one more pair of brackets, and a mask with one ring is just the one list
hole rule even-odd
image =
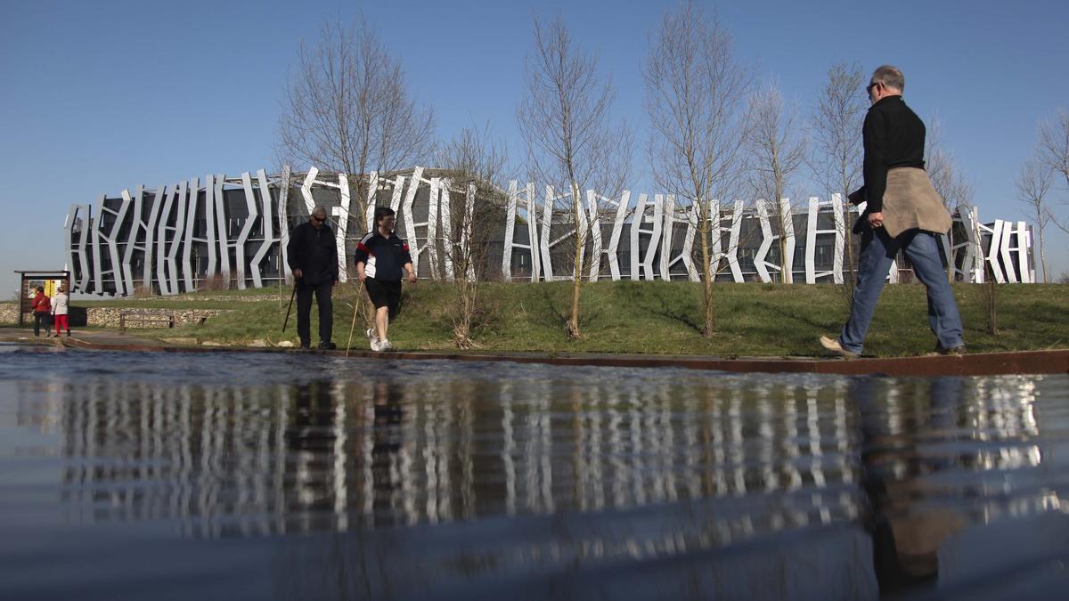
[[[1022, 218], [1014, 179], [1037, 123], [1069, 108], [1069, 2], [703, 2], [759, 78], [774, 76], [805, 111], [830, 65], [896, 64], [905, 98], [943, 141], [983, 218]], [[61, 268], [72, 202], [138, 184], [274, 165], [288, 70], [325, 19], [362, 12], [433, 106], [437, 134], [489, 123], [522, 155], [515, 107], [531, 18], [558, 11], [599, 53], [616, 113], [646, 138], [640, 67], [648, 32], [677, 2], [4, 2], [0, 20], [0, 292], [13, 269]], [[1058, 42], [1063, 40], [1063, 42]], [[637, 144], [632, 188], [655, 191]], [[517, 176], [520, 175], [517, 170]], [[799, 196], [819, 191], [800, 190]], [[1053, 200], [1069, 200], [1058, 186]], [[1069, 215], [1069, 204], [1058, 207]], [[1051, 232], [1051, 272], [1069, 238]]]

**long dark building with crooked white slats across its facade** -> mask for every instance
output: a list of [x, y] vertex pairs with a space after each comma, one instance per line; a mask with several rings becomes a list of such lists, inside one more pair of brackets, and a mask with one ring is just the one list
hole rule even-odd
[[[575, 228], [570, 195], [558, 196], [548, 186], [537, 192], [533, 184], [512, 182], [508, 191], [475, 198], [474, 185], [451, 175], [416, 167], [383, 176], [372, 173], [366, 180], [375, 204], [398, 212], [399, 233], [409, 242], [420, 277], [462, 276], [454, 273], [449, 250], [470, 246], [474, 237], [489, 240], [480, 253], [480, 278], [571, 277]], [[95, 215], [91, 205], [74, 204], [65, 225], [74, 290], [175, 294], [207, 284], [244, 289], [277, 283], [289, 275], [288, 233], [315, 204], [327, 206], [335, 221], [338, 248], [346, 257], [344, 280], [352, 249], [371, 224], [371, 211], [357, 215], [354, 182], [316, 169], [285, 169], [277, 175], [261, 169], [254, 176], [246, 172], [155, 189], [138, 186], [119, 198], [102, 197]], [[697, 281], [701, 245], [687, 201], [630, 191], [607, 199], [588, 191], [583, 206], [580, 227], [590, 232], [585, 277]], [[838, 195], [827, 202], [810, 198], [801, 206], [787, 201], [722, 205], [710, 235], [717, 280], [775, 281], [786, 268], [795, 282], [842, 281], [842, 232], [856, 216], [855, 209], [850, 211], [842, 216]], [[789, 216], [783, 234], [786, 265], [779, 257], [779, 212]], [[1031, 229], [1023, 221], [982, 225], [975, 207], [959, 214], [954, 240], [944, 238], [959, 279], [982, 281], [991, 267], [1000, 282], [1035, 281]], [[471, 230], [465, 231], [468, 222], [472, 229], [489, 228], [486, 235], [472, 236]], [[899, 269], [893, 269], [892, 281], [898, 277]]]

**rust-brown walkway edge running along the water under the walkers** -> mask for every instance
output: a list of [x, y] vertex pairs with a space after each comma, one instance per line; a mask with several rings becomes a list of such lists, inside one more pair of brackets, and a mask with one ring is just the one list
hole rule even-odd
[[[311, 353], [387, 359], [451, 359], [466, 361], [513, 361], [568, 366], [680, 367], [687, 369], [768, 373], [839, 373], [887, 375], [995, 375], [1013, 373], [1069, 373], [1069, 350], [976, 353], [963, 357], [884, 357], [862, 359], [812, 357], [711, 357], [696, 355], [625, 355], [613, 353], [480, 353], [461, 351], [398, 351], [373, 353], [368, 350], [299, 351], [294, 349], [251, 349], [241, 346], [195, 346], [159, 339], [142, 338], [114, 330], [75, 332], [71, 338], [34, 338], [32, 329], [0, 328], [0, 342], [63, 344], [113, 351], [161, 352], [257, 352]], [[814, 343], [816, 345], [816, 341]]]

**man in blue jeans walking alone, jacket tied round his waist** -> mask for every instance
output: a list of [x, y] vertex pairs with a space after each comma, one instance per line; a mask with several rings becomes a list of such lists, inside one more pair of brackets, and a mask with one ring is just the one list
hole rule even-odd
[[884, 279], [900, 249], [927, 288], [928, 323], [938, 338], [936, 352], [965, 352], [958, 305], [935, 240], [935, 234], [950, 229], [950, 215], [924, 171], [925, 124], [902, 101], [904, 87], [902, 72], [884, 65], [866, 88], [872, 107], [862, 130], [865, 185], [850, 195], [854, 204], [867, 202], [854, 225], [854, 233], [862, 235], [857, 287], [839, 337], [820, 338], [825, 350], [843, 357], [862, 353]]

